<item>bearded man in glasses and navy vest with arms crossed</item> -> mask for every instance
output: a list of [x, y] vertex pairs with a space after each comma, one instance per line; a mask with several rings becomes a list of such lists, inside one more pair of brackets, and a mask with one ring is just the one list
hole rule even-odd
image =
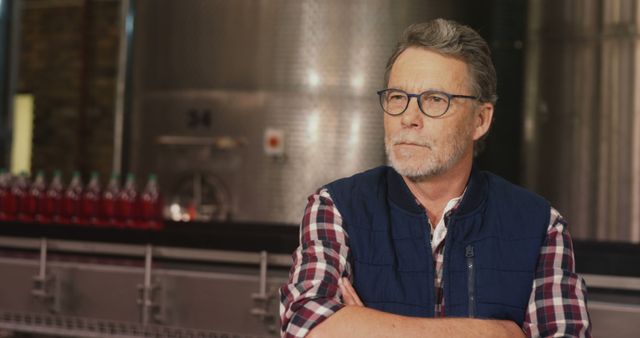
[[385, 83], [391, 168], [309, 198], [281, 289], [282, 335], [590, 336], [565, 221], [473, 168], [496, 101], [486, 42], [452, 21], [412, 25]]

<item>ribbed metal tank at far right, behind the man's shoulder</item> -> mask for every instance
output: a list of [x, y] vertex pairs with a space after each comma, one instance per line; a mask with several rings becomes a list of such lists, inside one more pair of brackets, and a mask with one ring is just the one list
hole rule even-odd
[[638, 2], [531, 3], [527, 185], [574, 237], [638, 243]]

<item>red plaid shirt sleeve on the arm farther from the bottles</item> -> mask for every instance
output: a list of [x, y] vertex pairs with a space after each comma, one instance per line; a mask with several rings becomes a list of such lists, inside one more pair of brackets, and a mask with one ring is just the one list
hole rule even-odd
[[555, 210], [538, 267], [523, 330], [528, 337], [591, 337], [587, 289], [575, 273], [567, 223]]

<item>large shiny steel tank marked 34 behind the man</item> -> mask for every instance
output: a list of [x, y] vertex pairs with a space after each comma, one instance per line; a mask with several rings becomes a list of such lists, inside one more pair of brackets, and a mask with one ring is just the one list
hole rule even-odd
[[[321, 185], [385, 163], [386, 59], [408, 24], [456, 13], [418, 0], [136, 4], [133, 171], [157, 172], [169, 202], [179, 182], [210, 175], [231, 220], [289, 224]], [[267, 128], [284, 132], [284, 157], [264, 153]], [[154, 142], [167, 135], [246, 145]]]

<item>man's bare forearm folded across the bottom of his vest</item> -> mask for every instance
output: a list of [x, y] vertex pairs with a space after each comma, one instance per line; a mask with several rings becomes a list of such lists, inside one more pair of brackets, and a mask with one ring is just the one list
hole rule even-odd
[[511, 321], [471, 318], [417, 318], [361, 306], [345, 306], [307, 337], [524, 337]]

